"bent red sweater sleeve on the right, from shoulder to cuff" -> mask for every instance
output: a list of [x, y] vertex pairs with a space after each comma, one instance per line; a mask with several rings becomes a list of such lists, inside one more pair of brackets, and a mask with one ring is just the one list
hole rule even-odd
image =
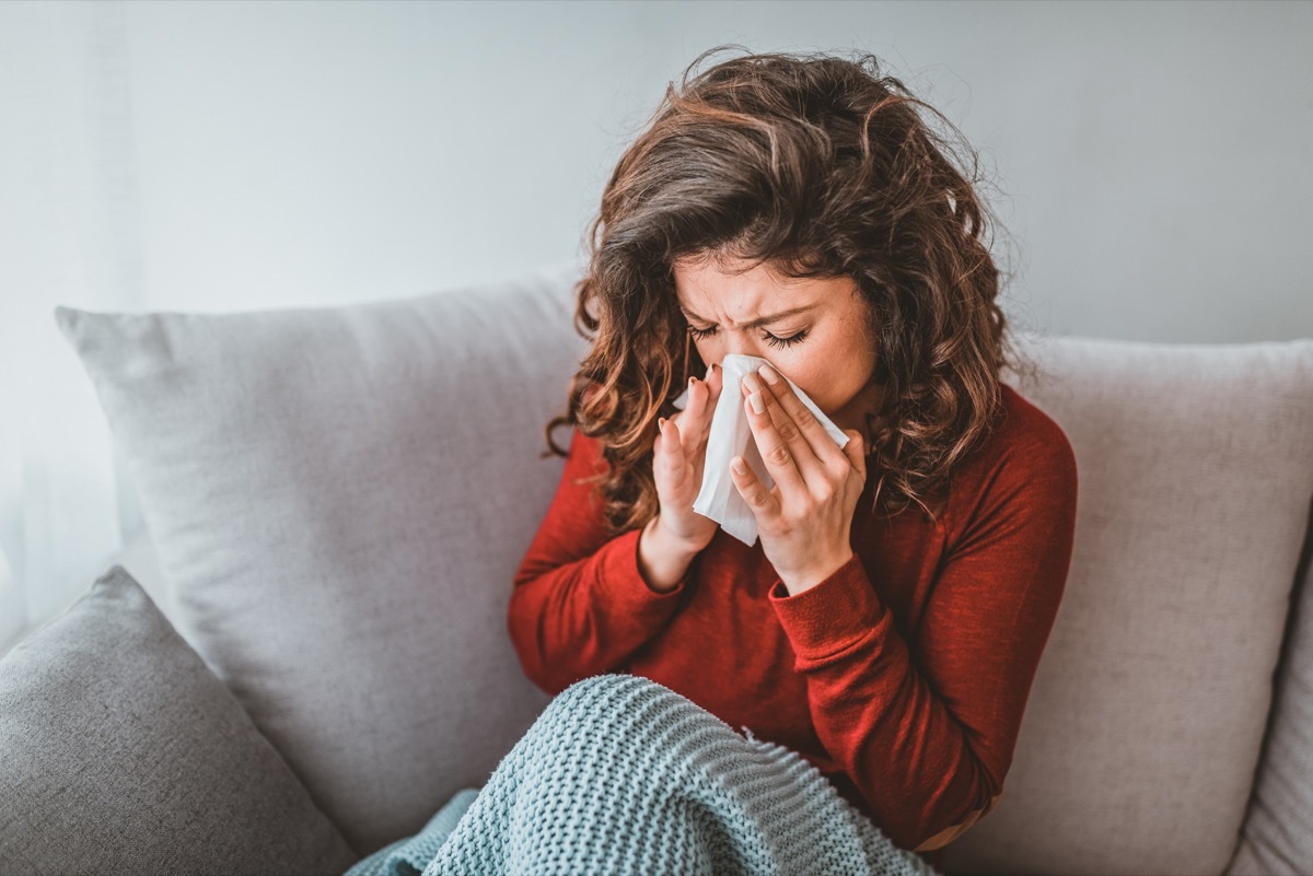
[[1077, 469], [1060, 430], [1019, 441], [982, 481], [914, 647], [857, 557], [794, 597], [769, 591], [817, 736], [915, 851], [998, 801], [1071, 559]]

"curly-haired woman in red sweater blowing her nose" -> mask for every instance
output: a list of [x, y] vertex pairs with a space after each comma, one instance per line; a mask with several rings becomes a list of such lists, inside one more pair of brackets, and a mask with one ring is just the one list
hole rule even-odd
[[[544, 690], [659, 682], [930, 852], [1002, 793], [1077, 469], [998, 379], [1023, 368], [986, 209], [918, 108], [943, 119], [871, 56], [741, 56], [667, 90], [592, 227], [592, 348], [548, 443], [574, 435], [508, 628]], [[731, 353], [775, 367], [725, 387]], [[692, 510], [721, 392], [775, 480], [734, 467], [751, 548]]]

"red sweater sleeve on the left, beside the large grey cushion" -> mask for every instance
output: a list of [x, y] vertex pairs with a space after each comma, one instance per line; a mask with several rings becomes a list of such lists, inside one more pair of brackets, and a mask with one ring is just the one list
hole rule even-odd
[[525, 674], [555, 695], [614, 671], [679, 610], [685, 581], [668, 593], [638, 569], [639, 530], [608, 536], [601, 497], [580, 479], [605, 471], [599, 443], [575, 430], [561, 484], [520, 569], [507, 629]]

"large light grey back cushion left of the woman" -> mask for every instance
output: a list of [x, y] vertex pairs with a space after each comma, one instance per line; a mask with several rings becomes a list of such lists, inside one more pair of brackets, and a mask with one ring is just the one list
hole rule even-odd
[[563, 467], [544, 426], [584, 351], [578, 277], [331, 308], [56, 312], [180, 632], [361, 854], [486, 782], [549, 702], [506, 610]]

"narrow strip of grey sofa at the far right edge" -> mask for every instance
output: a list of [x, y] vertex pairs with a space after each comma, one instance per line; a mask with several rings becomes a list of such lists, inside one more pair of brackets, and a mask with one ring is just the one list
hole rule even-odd
[[[1313, 517], [1313, 508], [1310, 517]], [[1313, 528], [1276, 673], [1276, 702], [1239, 848], [1226, 876], [1313, 873]]]

